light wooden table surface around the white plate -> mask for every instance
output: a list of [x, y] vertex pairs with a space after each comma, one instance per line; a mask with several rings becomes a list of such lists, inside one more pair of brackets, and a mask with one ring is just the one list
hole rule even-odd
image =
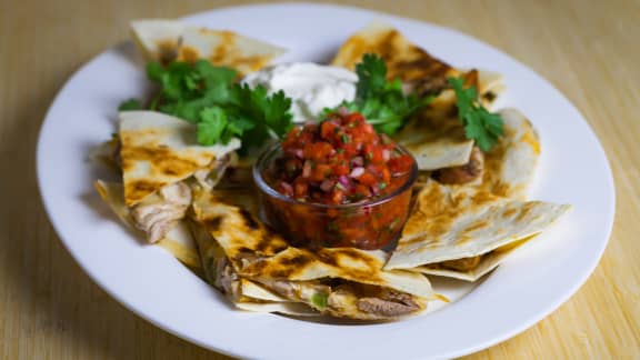
[[[227, 359], [138, 318], [80, 270], [42, 210], [34, 148], [56, 92], [127, 39], [129, 20], [247, 2], [0, 0], [1, 359]], [[582, 111], [611, 162], [616, 224], [596, 272], [536, 327], [471, 358], [640, 358], [640, 3], [340, 2], [454, 28], [522, 61]]]

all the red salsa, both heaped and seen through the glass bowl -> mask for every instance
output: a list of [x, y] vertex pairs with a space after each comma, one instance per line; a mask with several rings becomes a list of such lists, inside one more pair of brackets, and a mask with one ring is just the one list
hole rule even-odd
[[296, 127], [281, 146], [262, 174], [296, 202], [268, 198], [267, 216], [297, 244], [380, 249], [399, 236], [414, 161], [360, 113]]

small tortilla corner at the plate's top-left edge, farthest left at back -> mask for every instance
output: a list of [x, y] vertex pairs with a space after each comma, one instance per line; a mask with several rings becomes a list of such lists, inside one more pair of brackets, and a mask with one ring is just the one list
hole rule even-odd
[[131, 34], [147, 61], [169, 63], [178, 57], [180, 37], [187, 26], [177, 20], [143, 19], [131, 21]]

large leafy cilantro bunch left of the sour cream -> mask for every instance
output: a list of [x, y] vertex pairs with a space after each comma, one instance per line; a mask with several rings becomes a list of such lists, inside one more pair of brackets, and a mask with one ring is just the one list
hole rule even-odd
[[[292, 127], [291, 99], [279, 91], [268, 94], [236, 82], [238, 72], [199, 60], [193, 64], [174, 61], [168, 67], [147, 66], [147, 77], [159, 84], [148, 109], [189, 121], [198, 128], [198, 142], [204, 146], [242, 140], [242, 150], [259, 147], [271, 138], [281, 138]], [[142, 109], [136, 99], [124, 101], [120, 110]]]

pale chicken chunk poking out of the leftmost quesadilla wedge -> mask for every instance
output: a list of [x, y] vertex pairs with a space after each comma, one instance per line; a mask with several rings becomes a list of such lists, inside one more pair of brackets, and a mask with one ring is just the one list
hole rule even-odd
[[187, 213], [191, 189], [182, 182], [162, 188], [131, 209], [136, 228], [147, 233], [147, 241], [158, 242]]

